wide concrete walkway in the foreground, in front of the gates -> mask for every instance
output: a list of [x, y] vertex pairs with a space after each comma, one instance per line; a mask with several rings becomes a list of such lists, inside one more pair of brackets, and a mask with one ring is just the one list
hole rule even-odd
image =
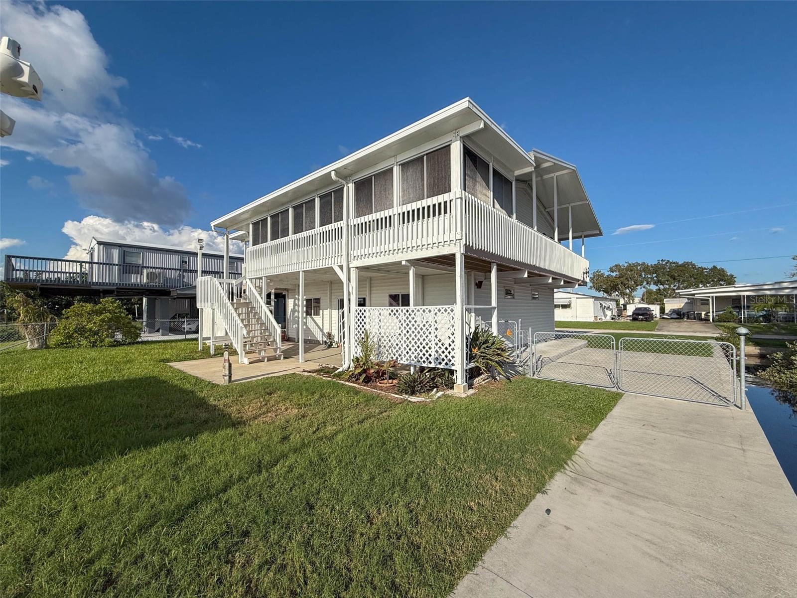
[[795, 562], [752, 411], [626, 394], [453, 596], [797, 596]]

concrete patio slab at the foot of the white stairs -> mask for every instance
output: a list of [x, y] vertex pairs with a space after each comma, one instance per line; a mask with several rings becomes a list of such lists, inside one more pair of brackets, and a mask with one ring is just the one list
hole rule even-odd
[[[284, 376], [285, 374], [295, 374], [320, 368], [322, 365], [329, 365], [340, 368], [340, 348], [326, 348], [317, 344], [306, 345], [304, 349], [304, 363], [299, 362], [299, 347], [295, 343], [283, 345], [285, 358], [281, 360], [261, 361], [253, 364], [238, 364], [238, 358], [232, 356], [233, 363], [232, 382], [246, 382], [266, 378], [269, 376]], [[218, 350], [218, 349], [217, 349]], [[210, 357], [210, 359], [175, 361], [171, 364], [202, 380], [222, 384], [222, 357]]]

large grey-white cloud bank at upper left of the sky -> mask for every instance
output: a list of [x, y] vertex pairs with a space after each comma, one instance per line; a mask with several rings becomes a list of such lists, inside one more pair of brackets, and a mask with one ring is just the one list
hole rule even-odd
[[[119, 221], [179, 225], [190, 213], [183, 185], [159, 176], [155, 161], [120, 116], [108, 56], [77, 10], [44, 3], [3, 6], [3, 33], [22, 42], [22, 57], [45, 81], [44, 100], [3, 98], [17, 120], [3, 145], [77, 172], [67, 177], [80, 204]], [[26, 45], [25, 40], [30, 40]], [[34, 41], [35, 40], [35, 41]], [[193, 142], [192, 142], [193, 143]]]

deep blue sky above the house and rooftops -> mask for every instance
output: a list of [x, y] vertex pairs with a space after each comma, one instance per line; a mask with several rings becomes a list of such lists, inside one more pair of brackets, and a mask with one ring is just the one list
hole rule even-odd
[[[189, 242], [464, 96], [579, 167], [607, 233], [587, 241], [593, 270], [689, 259], [776, 280], [790, 259], [722, 261], [797, 250], [794, 2], [60, 2], [3, 16], [45, 82], [41, 106], [2, 96], [18, 124], [0, 236], [24, 241], [9, 253], [77, 255], [103, 231]], [[91, 56], [40, 42], [45, 23]], [[639, 224], [656, 226], [611, 234]]]

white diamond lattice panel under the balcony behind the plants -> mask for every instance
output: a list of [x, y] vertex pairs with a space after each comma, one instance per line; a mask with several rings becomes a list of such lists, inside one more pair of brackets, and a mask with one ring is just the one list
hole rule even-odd
[[354, 351], [364, 332], [376, 345], [376, 358], [434, 368], [455, 367], [453, 305], [358, 307], [354, 317]]

